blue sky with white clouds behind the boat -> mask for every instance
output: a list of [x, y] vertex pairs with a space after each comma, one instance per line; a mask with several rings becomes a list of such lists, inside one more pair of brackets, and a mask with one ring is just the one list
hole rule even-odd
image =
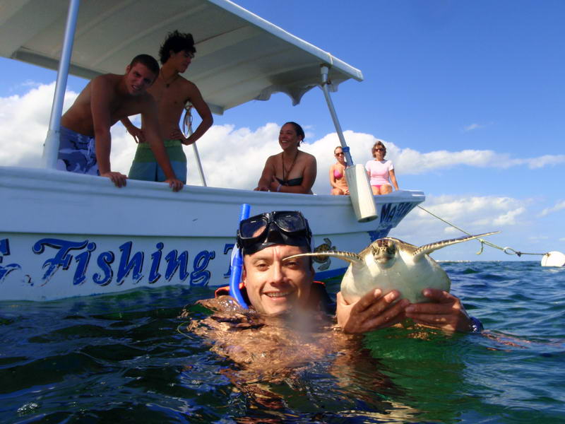
[[[347, 81], [333, 95], [357, 163], [369, 160], [367, 146], [381, 139], [400, 188], [423, 190], [425, 208], [469, 232], [501, 230], [489, 239], [497, 245], [565, 252], [564, 2], [352, 0], [347, 8], [334, 0], [236, 2], [361, 69], [363, 82]], [[37, 131], [42, 123], [47, 127], [55, 73], [8, 59], [0, 65], [0, 165], [34, 165], [37, 147], [26, 150], [32, 141], [11, 134], [19, 134], [23, 124], [32, 131], [20, 115], [32, 119]], [[70, 78], [69, 101], [84, 85]], [[279, 94], [216, 116], [198, 142], [210, 185], [254, 187], [261, 169], [250, 168], [243, 178], [227, 172], [229, 181], [215, 170], [232, 169], [222, 160], [237, 165], [237, 155], [261, 168], [266, 154], [278, 151], [278, 126], [290, 120], [307, 129], [311, 146], [304, 150], [311, 148], [319, 159], [315, 191], [328, 192], [327, 168], [337, 139], [317, 89], [297, 107]], [[133, 146], [123, 129], [115, 131], [127, 149], [112, 163], [126, 172]], [[208, 146], [215, 139], [232, 157], [214, 156]], [[271, 153], [252, 150], [266, 140]], [[414, 212], [391, 235], [421, 245], [460, 233]], [[432, 256], [516, 259], [491, 248], [477, 256], [478, 247], [470, 242]]]

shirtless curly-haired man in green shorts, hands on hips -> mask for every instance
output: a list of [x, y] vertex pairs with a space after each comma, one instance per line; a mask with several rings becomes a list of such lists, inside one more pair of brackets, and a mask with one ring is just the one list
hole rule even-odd
[[[194, 83], [186, 80], [180, 73], [184, 73], [191, 64], [196, 49], [191, 34], [174, 31], [169, 33], [167, 39], [159, 50], [162, 68], [157, 80], [148, 89], [157, 101], [160, 137], [165, 143], [167, 155], [177, 176], [186, 183], [186, 155], [182, 145], [189, 146], [200, 139], [212, 126], [213, 118], [210, 108], [203, 100], [200, 90]], [[190, 102], [196, 108], [202, 122], [194, 134], [185, 138], [179, 129], [179, 120], [184, 110], [184, 105]], [[142, 120], [142, 128], [138, 129], [131, 124], [129, 119], [121, 121], [129, 134], [138, 143], [136, 157], [133, 159], [129, 177], [131, 179], [144, 179], [146, 181], [162, 181], [165, 175], [155, 161], [155, 155], [145, 143], [146, 124]]]

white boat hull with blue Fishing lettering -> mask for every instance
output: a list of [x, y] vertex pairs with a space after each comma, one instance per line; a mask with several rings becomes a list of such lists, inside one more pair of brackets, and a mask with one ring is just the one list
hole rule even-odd
[[[54, 300], [170, 284], [215, 287], [230, 278], [243, 203], [251, 215], [304, 213], [320, 249], [359, 251], [385, 237], [422, 192], [376, 196], [379, 218], [359, 223], [348, 196], [307, 196], [0, 167], [0, 300]], [[314, 261], [316, 278], [345, 272]]]

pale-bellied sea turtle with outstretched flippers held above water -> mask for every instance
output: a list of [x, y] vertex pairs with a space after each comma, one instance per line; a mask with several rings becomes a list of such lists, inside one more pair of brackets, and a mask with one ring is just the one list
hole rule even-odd
[[422, 295], [424, 288], [449, 291], [451, 286], [446, 272], [428, 256], [429, 253], [442, 247], [492, 234], [496, 232], [443, 240], [420, 247], [393, 237], [384, 237], [372, 242], [359, 254], [316, 252], [297, 254], [292, 257], [323, 255], [350, 262], [341, 281], [341, 293], [348, 303], [356, 302], [373, 288], [380, 288], [383, 293], [396, 289], [400, 291], [401, 298], [418, 303], [427, 301], [427, 298]]

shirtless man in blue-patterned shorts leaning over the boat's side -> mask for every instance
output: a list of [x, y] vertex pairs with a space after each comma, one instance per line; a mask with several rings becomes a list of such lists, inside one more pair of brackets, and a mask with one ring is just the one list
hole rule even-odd
[[107, 73], [90, 81], [61, 118], [57, 168], [108, 177], [117, 187], [126, 175], [110, 167], [110, 127], [119, 119], [141, 114], [145, 139], [165, 171], [165, 182], [177, 192], [183, 183], [174, 175], [158, 134], [157, 105], [147, 89], [159, 73], [159, 64], [148, 54], [133, 58], [124, 75]]

